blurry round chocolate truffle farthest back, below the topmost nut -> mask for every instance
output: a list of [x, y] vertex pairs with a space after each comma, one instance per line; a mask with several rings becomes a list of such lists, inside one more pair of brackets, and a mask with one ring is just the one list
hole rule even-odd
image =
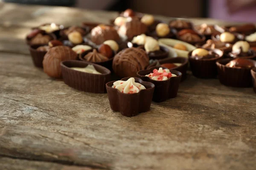
[[133, 37], [145, 34], [147, 31], [147, 26], [140, 22], [137, 18], [131, 18], [131, 21], [124, 23], [118, 30], [120, 37], [127, 38], [131, 40]]

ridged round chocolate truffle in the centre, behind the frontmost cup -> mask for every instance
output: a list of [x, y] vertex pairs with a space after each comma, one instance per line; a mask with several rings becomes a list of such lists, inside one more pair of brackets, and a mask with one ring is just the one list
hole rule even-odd
[[136, 77], [137, 71], [149, 64], [147, 53], [141, 48], [126, 48], [115, 55], [113, 71], [119, 77]]

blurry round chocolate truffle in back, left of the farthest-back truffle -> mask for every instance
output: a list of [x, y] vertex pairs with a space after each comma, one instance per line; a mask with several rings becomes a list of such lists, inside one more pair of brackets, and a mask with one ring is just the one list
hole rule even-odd
[[103, 24], [96, 26], [91, 31], [91, 40], [95, 44], [102, 44], [106, 40], [119, 41], [119, 35], [115, 28]]

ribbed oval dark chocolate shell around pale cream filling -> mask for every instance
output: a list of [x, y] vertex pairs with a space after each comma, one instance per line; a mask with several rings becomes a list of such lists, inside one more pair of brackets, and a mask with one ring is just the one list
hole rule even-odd
[[[102, 74], [92, 74], [77, 71], [71, 67], [84, 68], [87, 65], [93, 65], [94, 68]], [[65, 84], [79, 91], [89, 93], [106, 93], [105, 84], [110, 81], [111, 71], [97, 64], [84, 61], [67, 60], [61, 62], [61, 74]]]

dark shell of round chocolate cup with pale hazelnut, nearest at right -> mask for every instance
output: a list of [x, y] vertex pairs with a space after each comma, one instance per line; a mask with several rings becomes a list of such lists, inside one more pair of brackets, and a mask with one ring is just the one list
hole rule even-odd
[[219, 57], [212, 59], [195, 59], [191, 56], [192, 51], [189, 52], [189, 64], [195, 77], [204, 79], [216, 78], [218, 74], [216, 61], [223, 57], [223, 51], [219, 49], [213, 49], [213, 51], [217, 53]]

